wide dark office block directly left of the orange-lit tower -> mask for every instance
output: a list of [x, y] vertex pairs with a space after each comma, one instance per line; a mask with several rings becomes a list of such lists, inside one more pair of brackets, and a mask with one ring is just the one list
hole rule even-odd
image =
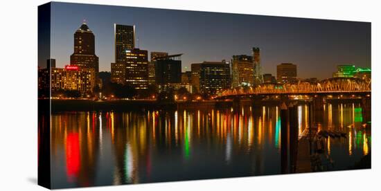
[[202, 62], [200, 64], [200, 91], [215, 95], [218, 91], [229, 89], [230, 66], [226, 62]]

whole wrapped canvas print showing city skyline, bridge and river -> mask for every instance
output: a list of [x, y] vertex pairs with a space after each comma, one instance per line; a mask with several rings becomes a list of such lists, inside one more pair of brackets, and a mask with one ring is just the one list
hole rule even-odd
[[371, 169], [371, 23], [53, 2], [38, 24], [39, 185]]

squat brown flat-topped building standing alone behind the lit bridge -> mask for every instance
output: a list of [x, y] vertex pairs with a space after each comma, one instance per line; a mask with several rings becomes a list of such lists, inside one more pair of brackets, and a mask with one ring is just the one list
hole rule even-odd
[[281, 83], [296, 81], [296, 65], [292, 63], [282, 63], [276, 66], [276, 80]]

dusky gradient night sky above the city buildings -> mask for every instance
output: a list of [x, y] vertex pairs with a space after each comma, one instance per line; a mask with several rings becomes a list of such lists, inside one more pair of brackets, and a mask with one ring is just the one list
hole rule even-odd
[[53, 3], [57, 67], [70, 63], [73, 34], [84, 19], [96, 37], [99, 71], [110, 71], [114, 62], [114, 23], [136, 26], [136, 48], [184, 53], [183, 71], [192, 63], [251, 55], [253, 46], [260, 47], [263, 73], [273, 75], [282, 62], [297, 64], [298, 78], [331, 78], [339, 64], [371, 67], [366, 22]]

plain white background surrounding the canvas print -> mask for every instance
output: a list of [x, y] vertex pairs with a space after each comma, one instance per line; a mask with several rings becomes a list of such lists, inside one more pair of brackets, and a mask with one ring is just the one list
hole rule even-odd
[[[44, 190], [37, 185], [37, 6], [47, 1], [3, 0], [0, 5], [0, 190]], [[372, 22], [372, 169], [239, 179], [149, 183], [94, 190], [380, 190], [379, 1], [136, 0], [69, 1], [118, 6], [235, 12]], [[107, 16], [106, 16], [107, 17]], [[351, 53], [348, 53], [351, 54]], [[80, 188], [77, 190], [88, 190]]]

